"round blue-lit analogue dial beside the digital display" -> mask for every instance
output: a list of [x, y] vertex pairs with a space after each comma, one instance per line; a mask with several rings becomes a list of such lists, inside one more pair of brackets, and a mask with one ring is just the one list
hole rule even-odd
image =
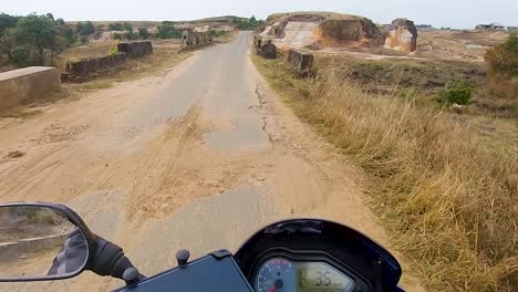
[[292, 262], [271, 259], [265, 262], [256, 279], [257, 292], [297, 292], [297, 271]]

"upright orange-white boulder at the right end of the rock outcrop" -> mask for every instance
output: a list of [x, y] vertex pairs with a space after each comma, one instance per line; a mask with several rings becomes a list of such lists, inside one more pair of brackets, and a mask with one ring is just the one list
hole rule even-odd
[[385, 28], [385, 49], [410, 53], [417, 50], [417, 29], [407, 19], [396, 19]]

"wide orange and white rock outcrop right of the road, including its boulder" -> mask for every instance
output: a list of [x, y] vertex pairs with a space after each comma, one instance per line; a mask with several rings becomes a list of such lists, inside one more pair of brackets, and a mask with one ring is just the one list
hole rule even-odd
[[417, 29], [407, 19], [380, 28], [367, 18], [332, 12], [273, 14], [260, 35], [281, 52], [327, 48], [385, 48], [404, 53], [417, 50]]

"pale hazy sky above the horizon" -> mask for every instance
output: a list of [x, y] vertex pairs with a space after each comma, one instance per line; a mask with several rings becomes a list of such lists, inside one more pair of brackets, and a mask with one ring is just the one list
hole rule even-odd
[[191, 20], [217, 15], [266, 18], [284, 11], [335, 11], [388, 23], [408, 18], [435, 27], [518, 27], [518, 0], [0, 0], [0, 12], [52, 12], [65, 20]]

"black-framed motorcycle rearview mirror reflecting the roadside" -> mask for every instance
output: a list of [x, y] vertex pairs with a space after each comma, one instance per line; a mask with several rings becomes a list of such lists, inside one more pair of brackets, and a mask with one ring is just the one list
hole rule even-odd
[[0, 206], [0, 282], [68, 279], [85, 269], [90, 234], [61, 207]]

